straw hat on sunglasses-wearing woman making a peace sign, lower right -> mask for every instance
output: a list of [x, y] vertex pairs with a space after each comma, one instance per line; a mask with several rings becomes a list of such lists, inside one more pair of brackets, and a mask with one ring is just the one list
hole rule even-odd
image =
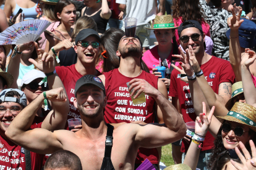
[[256, 108], [247, 103], [236, 102], [226, 116], [218, 118], [245, 124], [256, 132]]

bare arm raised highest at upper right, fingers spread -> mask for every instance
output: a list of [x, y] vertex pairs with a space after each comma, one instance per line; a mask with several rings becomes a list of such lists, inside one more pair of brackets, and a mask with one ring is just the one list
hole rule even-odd
[[232, 9], [233, 17], [228, 18], [228, 25], [230, 27], [229, 37], [229, 62], [233, 68], [234, 74], [236, 75], [236, 81], [242, 81], [241, 76], [241, 47], [239, 43], [238, 29], [244, 20], [240, 20], [242, 9], [236, 16], [234, 8]]

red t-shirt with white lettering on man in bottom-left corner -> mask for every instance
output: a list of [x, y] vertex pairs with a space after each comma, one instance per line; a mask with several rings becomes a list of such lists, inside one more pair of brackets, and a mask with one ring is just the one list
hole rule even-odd
[[[31, 129], [40, 128], [41, 123], [32, 124]], [[22, 147], [14, 144], [10, 140], [5, 140], [0, 136], [0, 169], [4, 170], [12, 170], [19, 169], [25, 170], [25, 152]], [[31, 155], [31, 164], [32, 170], [38, 170], [42, 168], [43, 158], [45, 155], [41, 155], [38, 153], [30, 152]]]

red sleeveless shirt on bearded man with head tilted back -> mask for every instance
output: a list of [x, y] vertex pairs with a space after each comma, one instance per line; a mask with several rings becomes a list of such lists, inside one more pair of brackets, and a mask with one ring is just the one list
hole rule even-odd
[[[153, 97], [146, 95], [146, 103], [139, 105], [132, 104], [132, 98], [130, 97], [126, 83], [134, 78], [122, 75], [117, 68], [104, 73], [104, 75], [106, 78], [106, 97], [108, 99], [104, 114], [106, 123], [130, 123], [130, 121], [154, 122], [154, 111], [156, 109], [154, 109], [155, 99]], [[158, 89], [158, 77], [155, 75], [142, 71], [135, 78], [145, 79], [151, 86]], [[152, 164], [158, 164], [158, 157], [156, 148], [139, 148], [135, 163], [140, 164], [147, 158]]]

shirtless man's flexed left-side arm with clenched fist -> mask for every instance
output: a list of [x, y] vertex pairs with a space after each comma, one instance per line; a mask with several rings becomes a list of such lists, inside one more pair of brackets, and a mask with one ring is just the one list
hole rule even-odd
[[[52, 102], [64, 102], [67, 100], [62, 88], [47, 91], [46, 97]], [[53, 133], [41, 128], [27, 131], [33, 123], [36, 110], [41, 107], [44, 99], [43, 94], [38, 95], [33, 102], [20, 111], [6, 131], [6, 136], [14, 141], [15, 144], [41, 154], [53, 153], [62, 149], [62, 144], [56, 136], [58, 132]]]

